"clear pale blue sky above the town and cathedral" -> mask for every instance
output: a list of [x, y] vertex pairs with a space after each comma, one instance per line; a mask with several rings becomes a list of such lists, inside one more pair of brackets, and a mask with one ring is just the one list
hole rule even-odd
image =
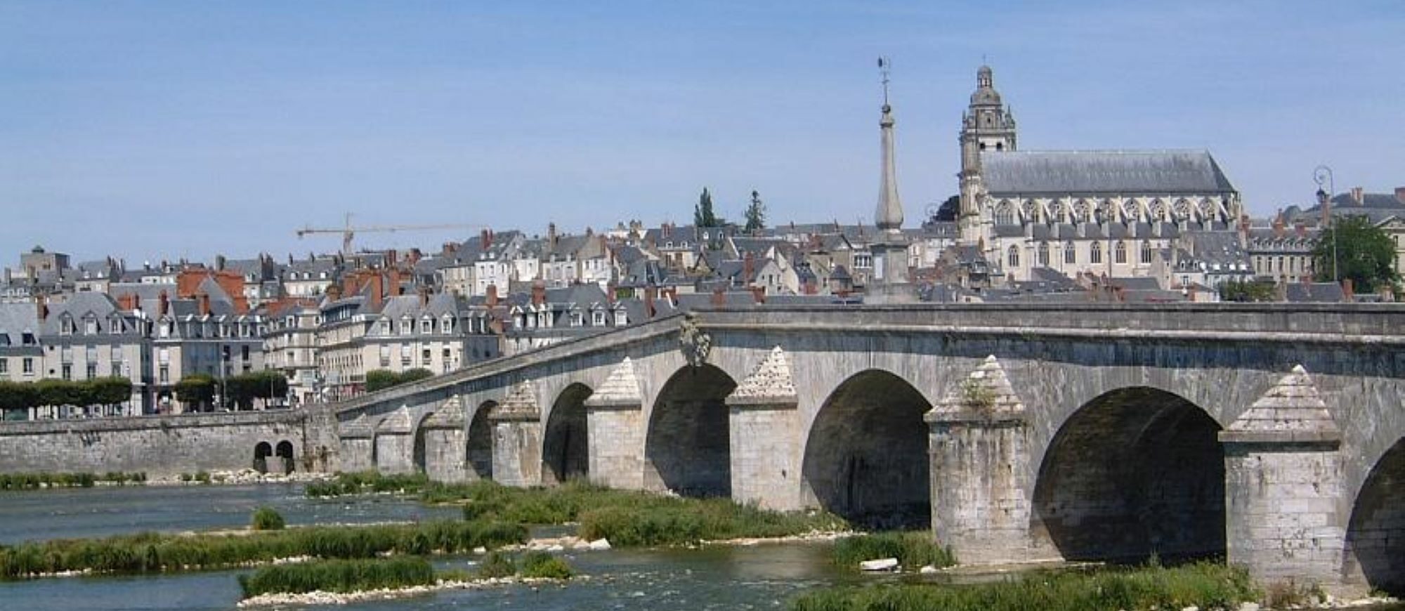
[[1208, 149], [1255, 215], [1405, 185], [1405, 3], [0, 0], [0, 264], [437, 250], [740, 219], [871, 222], [875, 58], [908, 225], [957, 192], [985, 62], [1021, 149]]

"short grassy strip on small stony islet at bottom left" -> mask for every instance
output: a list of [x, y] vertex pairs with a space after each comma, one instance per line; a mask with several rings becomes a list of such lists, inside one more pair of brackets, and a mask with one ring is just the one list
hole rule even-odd
[[260, 594], [402, 589], [434, 583], [434, 567], [423, 558], [319, 560], [264, 566], [239, 576], [244, 598]]

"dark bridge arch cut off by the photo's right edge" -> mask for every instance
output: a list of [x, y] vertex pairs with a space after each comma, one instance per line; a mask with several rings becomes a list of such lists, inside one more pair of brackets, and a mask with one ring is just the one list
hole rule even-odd
[[1346, 579], [1405, 596], [1405, 438], [1366, 478], [1346, 527]]

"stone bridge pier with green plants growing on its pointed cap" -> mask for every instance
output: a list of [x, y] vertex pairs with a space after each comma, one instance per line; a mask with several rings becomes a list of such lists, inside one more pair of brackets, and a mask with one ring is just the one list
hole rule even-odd
[[1028, 424], [992, 355], [924, 416], [930, 427], [932, 531], [961, 563], [1028, 559]]

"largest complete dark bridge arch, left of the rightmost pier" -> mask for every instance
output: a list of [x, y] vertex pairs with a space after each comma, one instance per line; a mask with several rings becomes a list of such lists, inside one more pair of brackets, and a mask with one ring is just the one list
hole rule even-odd
[[1083, 405], [1054, 435], [1034, 486], [1034, 535], [1069, 560], [1225, 553], [1220, 424], [1200, 406], [1132, 386]]

